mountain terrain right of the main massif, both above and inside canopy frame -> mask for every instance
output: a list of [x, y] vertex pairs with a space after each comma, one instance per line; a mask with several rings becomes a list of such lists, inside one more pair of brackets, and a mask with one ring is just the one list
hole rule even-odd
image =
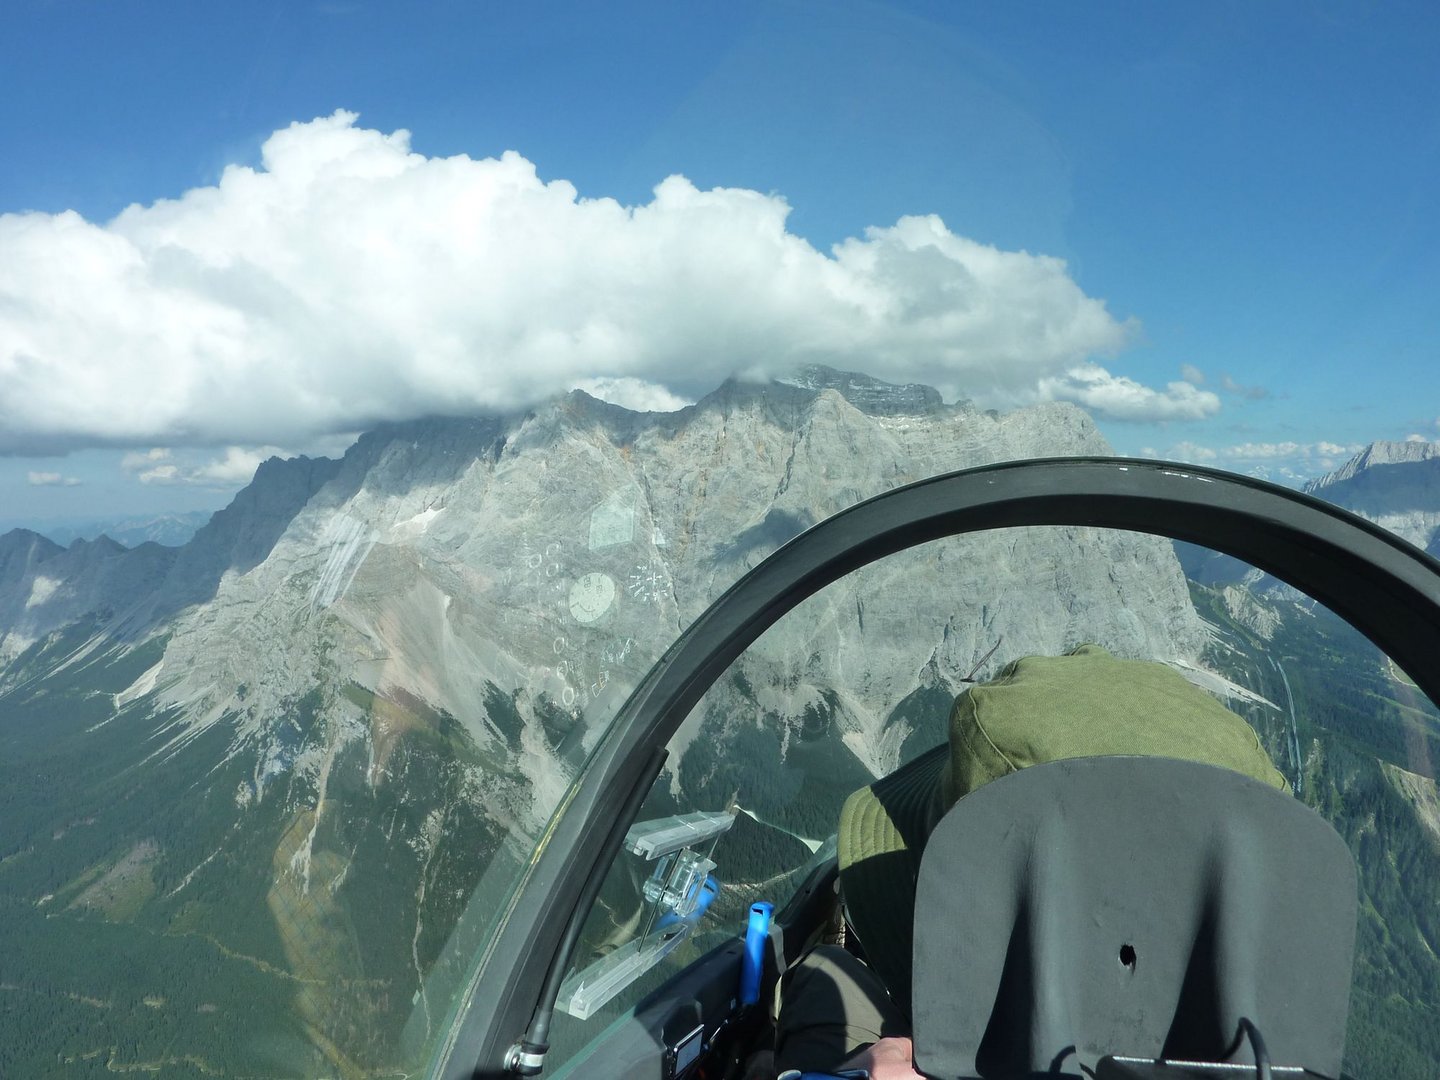
[[[1305, 491], [1440, 552], [1436, 444], [1371, 444]], [[1289, 736], [1276, 762], [1359, 865], [1348, 1070], [1431, 1076], [1440, 1060], [1440, 713], [1308, 596], [1230, 556], [1179, 543], [1176, 553], [1214, 629], [1208, 665], [1280, 707]]]

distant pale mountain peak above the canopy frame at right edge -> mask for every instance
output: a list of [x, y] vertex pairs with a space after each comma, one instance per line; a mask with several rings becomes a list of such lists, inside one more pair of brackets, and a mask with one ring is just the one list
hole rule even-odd
[[1440, 444], [1372, 442], [1305, 491], [1440, 552]]

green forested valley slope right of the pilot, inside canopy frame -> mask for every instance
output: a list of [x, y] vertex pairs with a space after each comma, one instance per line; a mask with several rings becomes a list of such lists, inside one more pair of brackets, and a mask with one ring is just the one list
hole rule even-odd
[[[1212, 665], [1282, 707], [1243, 711], [1300, 798], [1355, 855], [1361, 916], [1346, 1071], [1430, 1080], [1440, 1061], [1440, 834], [1390, 770], [1434, 780], [1440, 713], [1325, 609], [1264, 600], [1282, 615], [1264, 639], [1230, 618], [1218, 592], [1192, 586], [1192, 595], [1220, 629]], [[1290, 697], [1299, 768], [1287, 730]]]

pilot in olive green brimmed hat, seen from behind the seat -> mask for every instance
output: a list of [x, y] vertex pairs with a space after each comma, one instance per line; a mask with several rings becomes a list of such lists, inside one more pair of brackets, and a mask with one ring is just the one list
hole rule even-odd
[[775, 1044], [782, 1080], [920, 1076], [909, 1038], [910, 960], [926, 838], [981, 785], [1093, 755], [1179, 757], [1289, 791], [1250, 724], [1165, 664], [1117, 660], [1099, 645], [1009, 664], [955, 700], [948, 743], [845, 801], [837, 840], [851, 948], [815, 946], [786, 972]]

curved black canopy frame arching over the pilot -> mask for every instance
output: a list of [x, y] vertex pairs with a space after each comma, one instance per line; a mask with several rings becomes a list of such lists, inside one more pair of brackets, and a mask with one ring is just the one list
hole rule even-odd
[[[629, 821], [657, 752], [770, 625], [851, 570], [949, 536], [1090, 526], [1185, 540], [1315, 598], [1440, 701], [1440, 562], [1365, 518], [1266, 481], [1129, 458], [1040, 458], [894, 488], [821, 521], [736, 582], [641, 680], [566, 793], [480, 958], [438, 1076], [501, 1077], [543, 1032], [586, 883]], [[539, 1027], [536, 1025], [539, 1021]]]

